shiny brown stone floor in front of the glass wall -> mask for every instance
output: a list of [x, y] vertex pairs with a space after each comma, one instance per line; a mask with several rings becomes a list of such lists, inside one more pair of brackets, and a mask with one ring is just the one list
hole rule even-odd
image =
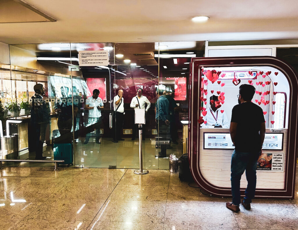
[[250, 211], [226, 209], [167, 170], [4, 167], [1, 230], [298, 230], [294, 200], [254, 200]]

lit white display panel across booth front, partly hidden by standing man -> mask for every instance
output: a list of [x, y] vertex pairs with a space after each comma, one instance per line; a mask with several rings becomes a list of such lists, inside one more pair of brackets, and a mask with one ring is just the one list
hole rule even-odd
[[[204, 133], [204, 149], [234, 149], [230, 133]], [[283, 133], [266, 133], [263, 150], [283, 150]]]

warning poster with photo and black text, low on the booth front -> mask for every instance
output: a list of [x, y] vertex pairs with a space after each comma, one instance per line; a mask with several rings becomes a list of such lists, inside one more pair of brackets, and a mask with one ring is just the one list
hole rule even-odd
[[257, 170], [283, 172], [284, 153], [262, 153], [257, 162]]

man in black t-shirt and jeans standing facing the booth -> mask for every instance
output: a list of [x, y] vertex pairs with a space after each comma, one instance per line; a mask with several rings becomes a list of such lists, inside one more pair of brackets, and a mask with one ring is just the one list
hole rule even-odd
[[226, 203], [226, 207], [233, 212], [240, 211], [240, 179], [244, 170], [248, 183], [241, 203], [245, 209], [250, 209], [256, 190], [257, 160], [262, 152], [266, 128], [262, 108], [251, 102], [254, 93], [254, 86], [241, 85], [238, 95], [239, 105], [235, 105], [232, 110], [230, 134], [235, 146], [231, 161], [233, 199], [232, 203]]

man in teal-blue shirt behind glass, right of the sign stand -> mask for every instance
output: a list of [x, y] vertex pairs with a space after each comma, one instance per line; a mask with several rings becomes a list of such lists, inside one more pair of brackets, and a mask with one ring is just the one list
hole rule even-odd
[[[155, 104], [156, 107], [156, 129], [159, 131], [159, 140], [168, 141], [170, 137], [170, 121], [169, 121], [169, 101], [163, 97], [163, 91], [156, 88], [156, 95], [158, 100]], [[158, 157], [167, 156], [167, 144], [160, 144], [161, 151], [158, 153]]]

